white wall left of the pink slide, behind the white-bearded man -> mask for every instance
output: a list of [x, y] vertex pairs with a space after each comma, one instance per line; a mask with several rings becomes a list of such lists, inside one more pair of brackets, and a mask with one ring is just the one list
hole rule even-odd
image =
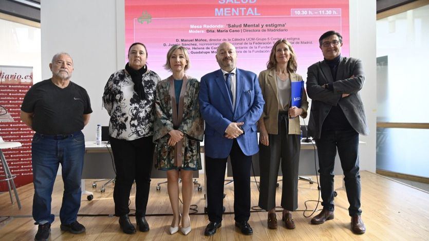
[[83, 130], [87, 140], [95, 140], [97, 124], [109, 123], [106, 110], [101, 109], [101, 97], [107, 79], [118, 70], [116, 22], [113, 0], [41, 3], [42, 79], [52, 76], [49, 63], [55, 53], [64, 51], [71, 55], [71, 80], [85, 88], [91, 99], [93, 112]]

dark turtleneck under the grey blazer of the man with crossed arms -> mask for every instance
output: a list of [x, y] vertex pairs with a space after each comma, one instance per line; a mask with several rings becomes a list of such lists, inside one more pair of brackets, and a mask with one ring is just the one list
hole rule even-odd
[[[341, 55], [338, 55], [332, 60], [327, 60], [327, 59], [324, 60], [331, 70], [333, 82], [339, 80], [337, 79], [337, 70], [338, 70], [338, 65], [340, 64], [340, 59], [341, 59]], [[333, 91], [333, 85], [329, 84], [328, 89], [330, 91]], [[352, 129], [352, 127], [350, 126], [350, 123], [347, 121], [347, 118], [344, 115], [344, 112], [341, 109], [340, 105], [332, 106], [331, 110], [328, 113], [328, 116], [326, 116], [325, 121], [322, 124], [322, 132], [345, 131], [350, 129]]]

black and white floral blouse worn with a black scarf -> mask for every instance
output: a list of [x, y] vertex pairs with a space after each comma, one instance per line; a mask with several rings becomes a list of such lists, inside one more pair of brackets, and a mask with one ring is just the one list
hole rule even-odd
[[160, 80], [158, 74], [147, 70], [142, 77], [145, 97], [140, 100], [131, 76], [125, 70], [110, 75], [104, 87], [103, 104], [110, 115], [111, 137], [135, 140], [153, 135], [154, 97]]

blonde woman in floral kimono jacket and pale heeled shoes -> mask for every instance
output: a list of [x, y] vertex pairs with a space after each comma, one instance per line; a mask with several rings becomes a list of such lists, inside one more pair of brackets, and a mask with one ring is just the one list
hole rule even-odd
[[[167, 172], [167, 189], [173, 209], [170, 233], [179, 230], [182, 219], [184, 235], [191, 232], [192, 172], [201, 169], [199, 144], [204, 128], [198, 104], [200, 84], [184, 73], [189, 65], [188, 50], [178, 45], [171, 47], [164, 67], [173, 75], [156, 87], [154, 119], [156, 167]], [[179, 176], [182, 180], [182, 216], [179, 212]]]

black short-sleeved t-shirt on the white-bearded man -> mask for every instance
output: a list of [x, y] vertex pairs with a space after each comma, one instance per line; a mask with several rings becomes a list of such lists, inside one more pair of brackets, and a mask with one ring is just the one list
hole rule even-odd
[[32, 129], [45, 135], [71, 134], [84, 127], [83, 114], [92, 113], [86, 90], [70, 81], [61, 89], [51, 79], [27, 92], [21, 110], [33, 113]]

